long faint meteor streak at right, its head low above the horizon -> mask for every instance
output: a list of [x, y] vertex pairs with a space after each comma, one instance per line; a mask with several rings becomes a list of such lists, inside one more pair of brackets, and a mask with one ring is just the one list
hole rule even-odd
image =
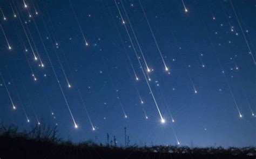
[[226, 77], [226, 75], [225, 75], [224, 69], [223, 69], [223, 67], [222, 67], [222, 65], [221, 65], [221, 62], [220, 62], [220, 60], [219, 60], [219, 57], [218, 57], [218, 55], [217, 55], [217, 51], [216, 51], [216, 49], [215, 49], [215, 47], [214, 47], [214, 45], [213, 45], [213, 43], [212, 43], [212, 40], [211, 40], [211, 37], [210, 37], [210, 33], [209, 33], [209, 31], [208, 31], [207, 25], [204, 23], [203, 18], [201, 18], [200, 10], [198, 11], [198, 13], [199, 13], [199, 17], [200, 17], [199, 19], [200, 19], [201, 24], [204, 25], [205, 28], [206, 28], [207, 35], [208, 35], [208, 39], [209, 39], [210, 44], [211, 44], [211, 47], [212, 47], [212, 49], [213, 49], [213, 53], [214, 53], [214, 55], [215, 55], [215, 57], [216, 57], [216, 59], [217, 59], [217, 61], [218, 61], [219, 67], [220, 67], [220, 69], [221, 69], [221, 73], [223, 74], [223, 76], [224, 76], [224, 78], [225, 78], [225, 82], [226, 82], [226, 84], [227, 84], [227, 86], [228, 86], [228, 90], [229, 90], [230, 93], [231, 93], [233, 102], [234, 102], [235, 107], [237, 108], [237, 111], [238, 111], [238, 113], [239, 113], [239, 117], [242, 118], [242, 114], [241, 114], [241, 112], [240, 112], [240, 110], [239, 110], [239, 107], [238, 107], [238, 105], [237, 105], [237, 100], [235, 100], [234, 95], [233, 95], [233, 92], [232, 92], [231, 87], [230, 87], [230, 84], [229, 84], [228, 81], [227, 81], [227, 77]]

